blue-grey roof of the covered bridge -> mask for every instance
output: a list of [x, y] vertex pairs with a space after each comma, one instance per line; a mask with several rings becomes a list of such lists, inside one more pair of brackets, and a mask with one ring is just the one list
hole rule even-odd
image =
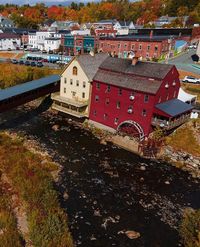
[[0, 101], [26, 93], [28, 91], [32, 91], [44, 86], [48, 86], [59, 80], [60, 80], [60, 75], [51, 75], [51, 76], [43, 77], [38, 80], [33, 80], [13, 87], [2, 89], [0, 90]]

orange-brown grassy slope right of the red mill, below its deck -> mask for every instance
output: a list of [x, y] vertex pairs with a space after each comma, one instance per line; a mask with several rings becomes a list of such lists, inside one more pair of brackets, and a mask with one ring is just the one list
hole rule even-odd
[[198, 133], [198, 130], [193, 130], [191, 126], [186, 124], [167, 137], [167, 144], [177, 151], [185, 151], [200, 156], [200, 145], [194, 133]]

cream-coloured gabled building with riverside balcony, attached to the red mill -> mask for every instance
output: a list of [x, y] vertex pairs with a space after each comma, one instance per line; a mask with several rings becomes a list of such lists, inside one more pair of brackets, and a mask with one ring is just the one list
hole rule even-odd
[[60, 92], [53, 94], [52, 108], [81, 118], [87, 117], [91, 93], [91, 81], [106, 54], [85, 54], [75, 57], [61, 75]]

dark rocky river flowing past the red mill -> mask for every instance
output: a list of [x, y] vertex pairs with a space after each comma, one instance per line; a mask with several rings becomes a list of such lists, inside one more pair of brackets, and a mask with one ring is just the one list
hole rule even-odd
[[[0, 123], [0, 129], [40, 142], [62, 165], [58, 190], [77, 246], [180, 246], [182, 210], [200, 207], [199, 183], [188, 173], [101, 145], [89, 132], [48, 111], [18, 108], [0, 115]], [[52, 130], [54, 124], [58, 131]], [[130, 240], [126, 230], [141, 237]]]

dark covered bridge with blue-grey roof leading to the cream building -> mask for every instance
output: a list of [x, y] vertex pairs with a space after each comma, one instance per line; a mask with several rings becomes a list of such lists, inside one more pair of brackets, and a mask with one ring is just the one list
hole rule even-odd
[[60, 76], [51, 75], [0, 90], [0, 113], [60, 89]]

